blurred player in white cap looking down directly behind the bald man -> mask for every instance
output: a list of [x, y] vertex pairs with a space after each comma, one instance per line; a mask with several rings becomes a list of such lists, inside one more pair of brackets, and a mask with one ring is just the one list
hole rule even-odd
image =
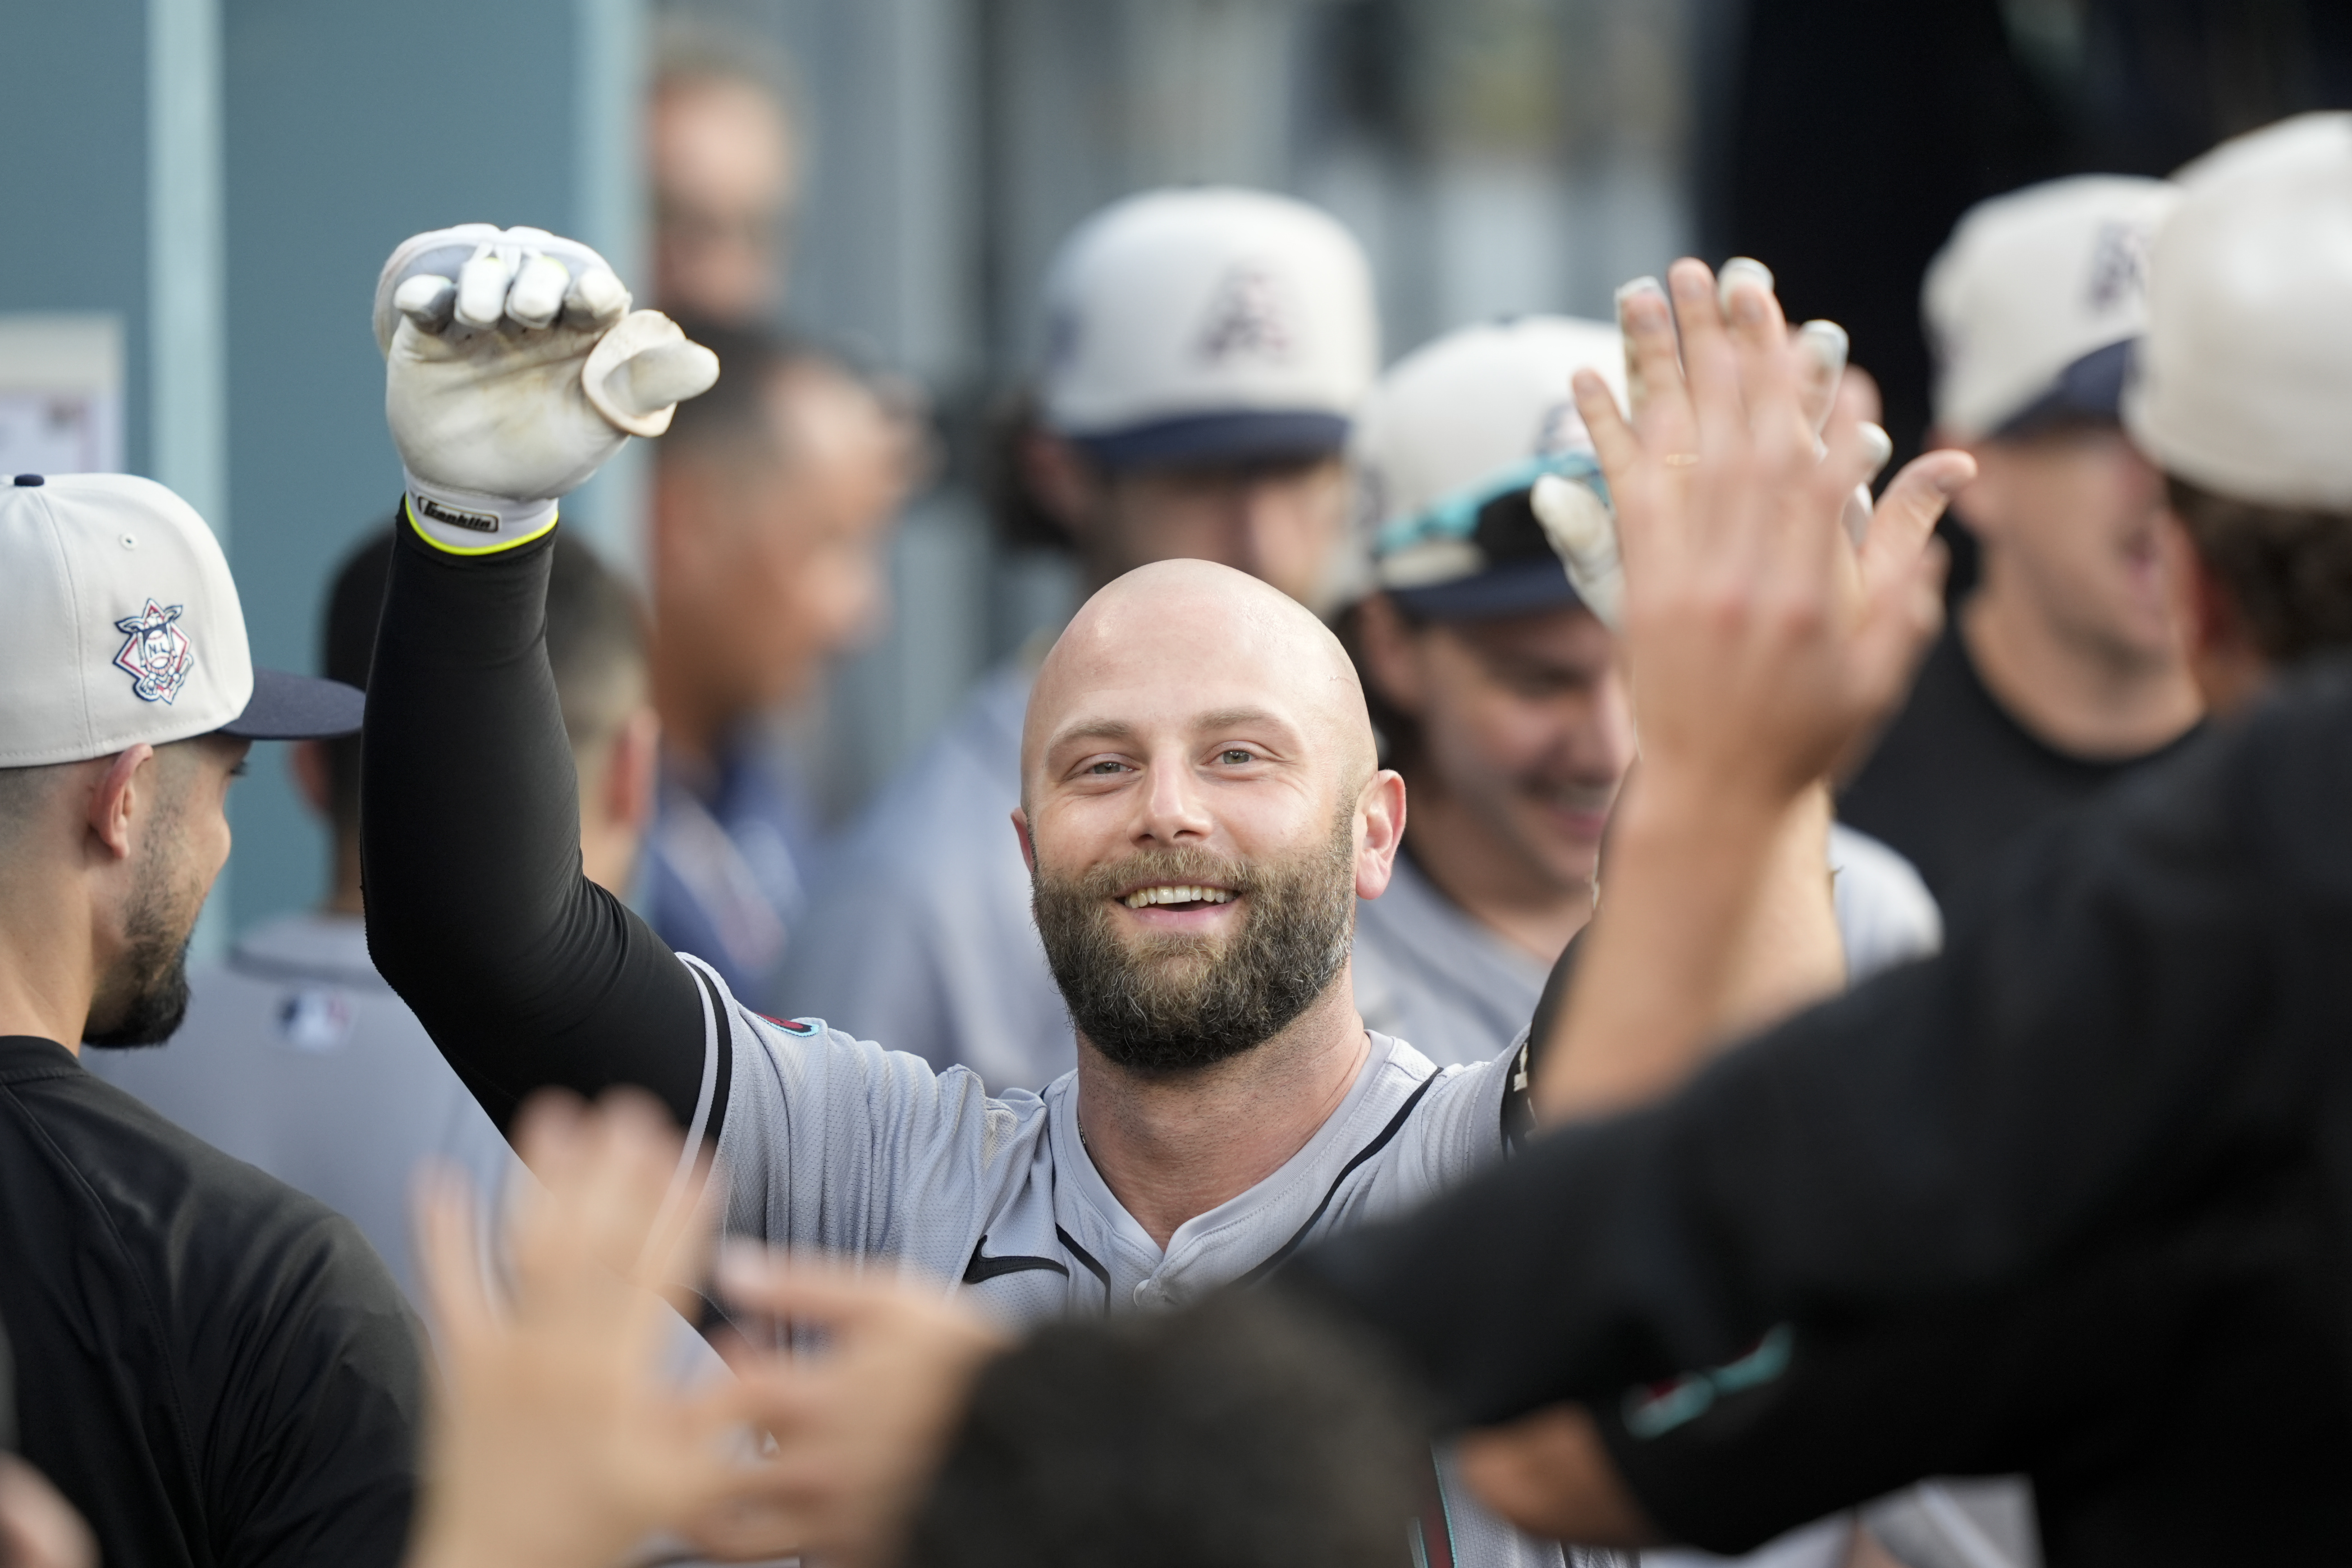
[[[1054, 261], [1009, 489], [1077, 552], [1082, 592], [1195, 557], [1324, 609], [1345, 559], [1343, 449], [1376, 369], [1371, 273], [1327, 214], [1258, 190], [1136, 195]], [[1044, 649], [985, 675], [849, 830], [826, 924], [779, 994], [990, 1091], [1077, 1063], [1007, 827]]]

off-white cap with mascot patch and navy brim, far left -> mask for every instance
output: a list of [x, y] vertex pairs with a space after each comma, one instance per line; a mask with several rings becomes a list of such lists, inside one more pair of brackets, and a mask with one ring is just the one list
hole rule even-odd
[[254, 670], [212, 529], [153, 480], [0, 480], [0, 769], [230, 733], [348, 736], [365, 698]]

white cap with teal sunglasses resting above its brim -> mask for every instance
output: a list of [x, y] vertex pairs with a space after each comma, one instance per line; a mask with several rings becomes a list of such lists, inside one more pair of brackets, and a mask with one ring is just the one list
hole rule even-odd
[[1437, 621], [1576, 604], [1526, 494], [1543, 475], [1602, 487], [1569, 388], [1578, 369], [1623, 402], [1616, 327], [1569, 315], [1463, 327], [1381, 376], [1350, 447], [1374, 583]]

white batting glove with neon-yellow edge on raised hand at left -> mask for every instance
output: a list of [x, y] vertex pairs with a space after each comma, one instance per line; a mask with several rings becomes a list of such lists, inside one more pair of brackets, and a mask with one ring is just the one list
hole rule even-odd
[[555, 527], [555, 498], [661, 435], [720, 362], [628, 308], [604, 259], [539, 228], [412, 235], [376, 277], [383, 416], [419, 534], [459, 555]]

